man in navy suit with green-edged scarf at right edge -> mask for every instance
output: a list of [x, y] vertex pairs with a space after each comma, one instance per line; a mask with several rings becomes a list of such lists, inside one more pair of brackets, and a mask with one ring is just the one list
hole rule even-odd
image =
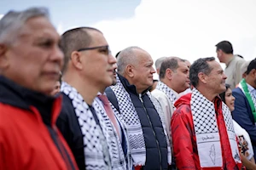
[[254, 159], [256, 158], [256, 59], [247, 67], [247, 75], [241, 80], [238, 88], [233, 90], [235, 111], [234, 120], [247, 130], [253, 144]]

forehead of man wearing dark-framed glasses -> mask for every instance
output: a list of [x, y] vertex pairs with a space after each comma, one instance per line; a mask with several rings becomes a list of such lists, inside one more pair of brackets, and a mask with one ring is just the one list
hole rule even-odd
[[96, 30], [88, 31], [91, 37], [90, 46], [107, 46], [108, 42], [106, 38], [103, 36], [102, 32]]

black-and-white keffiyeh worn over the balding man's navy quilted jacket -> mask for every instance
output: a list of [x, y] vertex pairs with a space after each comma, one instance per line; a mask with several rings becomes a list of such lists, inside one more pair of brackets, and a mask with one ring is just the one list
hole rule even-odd
[[[139, 117], [137, 116], [137, 111], [134, 105], [132, 104], [130, 95], [126, 92], [123, 84], [120, 82], [119, 77], [117, 77], [117, 83], [111, 88], [119, 103], [120, 112], [117, 113], [117, 116], [119, 116], [121, 121], [125, 122], [125, 126], [127, 127], [128, 139], [131, 146], [131, 157], [133, 160], [133, 165], [143, 166], [145, 165], [145, 162], [146, 162], [146, 148], [145, 148], [145, 141], [143, 137], [143, 129], [142, 129]], [[153, 99], [151, 94], [149, 98]], [[160, 119], [162, 121], [163, 113], [162, 113], [160, 104], [157, 103], [156, 99], [154, 99], [153, 104], [159, 105], [159, 107], [157, 107], [156, 109], [161, 111]], [[165, 126], [164, 123], [162, 124], [164, 127]], [[164, 127], [164, 130], [166, 134], [165, 127]], [[169, 152], [168, 162], [171, 163], [171, 149], [169, 145], [169, 139], [167, 139], [167, 135], [166, 135], [166, 141], [168, 144], [168, 152]]]

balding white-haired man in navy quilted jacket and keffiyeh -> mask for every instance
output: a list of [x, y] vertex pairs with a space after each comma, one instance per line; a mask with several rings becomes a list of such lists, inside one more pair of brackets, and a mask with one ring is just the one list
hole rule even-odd
[[[160, 104], [148, 92], [153, 84], [153, 60], [142, 48], [130, 47], [118, 56], [118, 80], [108, 99], [127, 127], [135, 169], [167, 169], [171, 150], [162, 124]], [[107, 93], [109, 94], [109, 93]]]

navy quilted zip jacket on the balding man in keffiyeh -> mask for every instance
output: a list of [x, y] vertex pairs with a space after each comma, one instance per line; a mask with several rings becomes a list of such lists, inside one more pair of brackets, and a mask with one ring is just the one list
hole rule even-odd
[[[119, 79], [125, 90], [130, 94], [131, 101], [142, 124], [146, 145], [146, 164], [143, 170], [168, 169], [166, 135], [160, 121], [160, 116], [146, 94], [147, 90], [143, 92], [140, 99], [134, 85], [131, 85], [125, 77], [119, 76]], [[117, 99], [113, 95], [112, 89], [107, 88], [106, 94], [108, 95], [109, 101], [119, 110], [119, 105], [117, 105]]]

